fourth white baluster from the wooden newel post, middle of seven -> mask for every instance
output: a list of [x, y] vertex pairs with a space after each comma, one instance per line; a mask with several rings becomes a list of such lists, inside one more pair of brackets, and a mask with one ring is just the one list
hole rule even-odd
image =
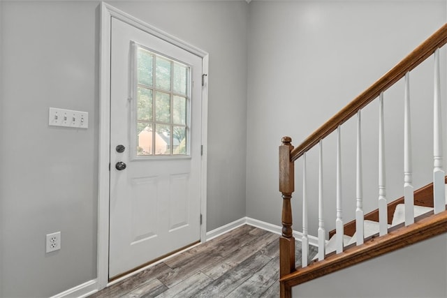
[[365, 225], [363, 223], [363, 181], [362, 181], [362, 124], [360, 119], [360, 110], [357, 112], [357, 171], [356, 171], [356, 234], [357, 245], [363, 244], [365, 237]]

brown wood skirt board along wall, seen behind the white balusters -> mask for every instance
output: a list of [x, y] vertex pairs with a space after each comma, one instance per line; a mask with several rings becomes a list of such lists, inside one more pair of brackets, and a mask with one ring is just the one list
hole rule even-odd
[[[447, 184], [447, 176], [445, 178]], [[398, 204], [404, 204], [404, 197], [388, 203], [388, 224], [393, 222], [393, 214]], [[433, 208], [433, 184], [423, 186], [414, 192], [414, 204], [423, 207]], [[365, 221], [379, 221], [379, 209], [369, 212], [365, 215]], [[329, 238], [334, 236], [335, 230], [329, 232]], [[353, 236], [356, 232], [356, 220], [350, 221], [344, 225], [344, 234]]]

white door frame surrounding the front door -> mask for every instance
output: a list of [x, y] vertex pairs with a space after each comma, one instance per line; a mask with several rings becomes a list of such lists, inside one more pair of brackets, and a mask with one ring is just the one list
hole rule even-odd
[[[101, 2], [100, 20], [100, 66], [99, 66], [99, 168], [98, 168], [98, 247], [97, 247], [97, 282], [98, 290], [105, 288], [108, 281], [109, 269], [109, 200], [110, 200], [110, 23], [112, 17], [131, 26], [141, 29], [153, 36], [166, 40], [196, 56], [202, 58], [202, 73], [208, 73], [209, 54], [203, 50], [185, 43], [183, 40], [156, 29], [155, 27], [124, 13], [107, 3]], [[208, 83], [207, 76], [203, 76], [202, 87], [202, 145], [203, 154], [200, 161], [200, 241], [206, 240], [207, 223], [207, 111], [208, 111]], [[202, 82], [200, 82], [202, 83]]]

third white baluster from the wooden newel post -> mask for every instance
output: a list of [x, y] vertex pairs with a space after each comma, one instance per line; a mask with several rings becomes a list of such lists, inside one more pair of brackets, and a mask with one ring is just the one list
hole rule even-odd
[[343, 211], [342, 211], [342, 140], [340, 126], [337, 127], [337, 219], [335, 230], [337, 231], [337, 253], [343, 251]]

